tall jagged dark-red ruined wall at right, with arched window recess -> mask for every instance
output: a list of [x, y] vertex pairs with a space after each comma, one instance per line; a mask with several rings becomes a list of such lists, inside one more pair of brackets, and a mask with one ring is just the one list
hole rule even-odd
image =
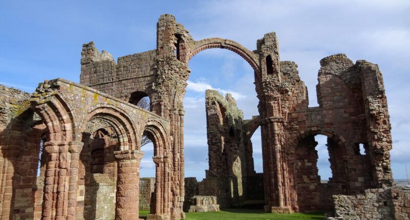
[[[369, 138], [374, 136], [369, 136], [370, 129], [367, 126], [369, 120], [365, 117], [367, 114], [366, 106], [369, 102], [365, 102], [363, 97], [367, 97], [364, 91], [369, 90], [368, 87], [370, 86], [367, 85], [369, 82], [363, 81], [363, 69], [372, 67], [373, 78], [380, 78], [381, 75], [377, 67], [367, 62], [363, 64], [363, 61], [353, 64], [344, 54], [323, 58], [320, 63], [322, 67], [319, 70], [319, 83], [317, 85], [319, 107], [304, 105], [304, 103], [308, 103], [306, 100], [307, 92], [303, 86], [300, 86], [300, 83], [299, 85], [297, 83], [291, 96], [291, 111], [288, 113], [289, 123], [286, 123], [284, 127], [285, 142], [289, 146], [287, 157], [289, 158], [288, 163], [290, 166], [288, 167], [290, 169], [288, 171], [293, 172], [290, 182], [294, 181], [296, 190], [294, 196], [297, 196], [298, 209], [300, 210], [330, 209], [330, 206], [323, 206], [323, 204], [329, 204], [328, 202], [331, 201], [333, 194], [362, 193], [364, 189], [374, 188], [382, 183], [392, 184], [391, 169], [387, 165], [389, 163], [384, 163], [386, 164], [383, 168], [384, 177], [382, 175], [377, 176], [376, 170], [378, 168], [374, 165], [375, 155], [378, 155], [376, 153], [378, 151], [382, 152], [380, 153], [380, 160], [389, 162], [388, 150], [390, 147], [378, 148], [370, 144], [374, 142], [369, 142]], [[297, 77], [295, 74], [297, 72], [294, 71], [290, 76], [293, 75], [293, 78], [295, 78]], [[378, 82], [378, 85], [380, 86], [380, 82]], [[377, 100], [385, 103], [383, 94], [379, 92]], [[378, 121], [378, 126], [381, 128], [378, 132], [383, 133], [382, 137], [386, 140], [383, 142], [385, 145], [391, 143], [389, 122], [384, 117], [384, 114], [387, 114], [387, 109], [383, 108], [385, 104], [377, 106], [382, 108], [379, 110], [382, 112], [380, 115], [383, 118]], [[320, 186], [319, 179], [313, 181], [316, 178], [313, 178], [312, 174], [317, 176], [316, 161], [303, 162], [297, 159], [298, 154], [312, 146], [303, 144], [303, 140], [313, 138], [314, 141], [315, 135], [328, 137], [327, 148], [333, 177], [327, 184], [322, 186]], [[359, 151], [360, 144], [363, 144], [365, 148], [363, 154]], [[314, 146], [311, 150], [306, 151], [308, 155], [312, 152], [314, 152]], [[317, 155], [308, 158], [314, 159], [315, 157]], [[311, 170], [308, 171], [307, 169]], [[313, 179], [298, 178], [307, 173], [311, 173], [308, 177]], [[314, 190], [316, 193], [314, 202], [312, 202], [312, 196], [303, 196], [301, 194], [304, 193], [303, 191], [305, 191], [307, 185], [310, 187], [309, 190]], [[291, 193], [293, 193], [292, 191]], [[322, 200], [327, 202], [322, 203]]]

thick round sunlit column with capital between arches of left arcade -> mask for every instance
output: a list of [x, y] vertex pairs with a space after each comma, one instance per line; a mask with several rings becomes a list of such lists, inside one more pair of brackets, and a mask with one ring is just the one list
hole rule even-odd
[[114, 151], [118, 161], [115, 220], [139, 219], [139, 163], [144, 152]]

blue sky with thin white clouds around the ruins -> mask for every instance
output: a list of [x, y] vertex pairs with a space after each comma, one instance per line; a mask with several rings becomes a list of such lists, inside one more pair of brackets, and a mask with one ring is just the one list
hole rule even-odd
[[[317, 105], [321, 58], [345, 53], [354, 62], [379, 64], [392, 123], [393, 177], [405, 178], [404, 165], [410, 167], [409, 1], [2, 1], [0, 83], [33, 92], [44, 79], [78, 82], [81, 46], [89, 41], [114, 58], [153, 50], [156, 22], [164, 13], [174, 14], [196, 40], [228, 38], [250, 50], [265, 33], [276, 32], [280, 59], [298, 64], [310, 106]], [[203, 51], [191, 59], [189, 68], [185, 170], [187, 177], [202, 179], [208, 151], [201, 89], [232, 92], [245, 118], [258, 114], [257, 99], [252, 68], [233, 52]], [[259, 131], [253, 142], [255, 167], [261, 171]], [[327, 179], [331, 173], [322, 145], [319, 174]], [[144, 148], [141, 176], [153, 176], [148, 163], [152, 148]]]

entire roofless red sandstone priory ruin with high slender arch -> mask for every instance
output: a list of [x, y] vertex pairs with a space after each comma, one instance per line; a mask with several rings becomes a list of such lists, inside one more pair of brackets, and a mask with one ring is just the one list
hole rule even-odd
[[[359, 195], [369, 189], [388, 194], [389, 201], [406, 198], [397, 196], [401, 189], [386, 188], [395, 185], [392, 137], [378, 66], [353, 63], [344, 54], [323, 58], [319, 106], [308, 107], [297, 64], [279, 59], [276, 34], [265, 34], [256, 45], [250, 51], [229, 39], [196, 41], [164, 14], [155, 50], [115, 61], [94, 42], [84, 44], [79, 84], [46, 80], [32, 94], [0, 87], [1, 219], [132, 220], [139, 203], [149, 207], [148, 219], [180, 219], [184, 200], [196, 195], [215, 196], [221, 207], [261, 201], [265, 211], [279, 213], [332, 210], [333, 200], [350, 200], [343, 204], [370, 212]], [[188, 62], [211, 48], [233, 51], [254, 69], [259, 116], [244, 120], [230, 95], [207, 91], [209, 170], [200, 183], [187, 184], [182, 99]], [[135, 105], [147, 96], [150, 111]], [[254, 171], [250, 141], [259, 126], [263, 173]], [[143, 135], [154, 145], [156, 175], [141, 180], [147, 184], [140, 188]], [[316, 135], [327, 136], [333, 173], [327, 183], [318, 175]], [[408, 196], [380, 204], [394, 210], [390, 217], [409, 217]]]

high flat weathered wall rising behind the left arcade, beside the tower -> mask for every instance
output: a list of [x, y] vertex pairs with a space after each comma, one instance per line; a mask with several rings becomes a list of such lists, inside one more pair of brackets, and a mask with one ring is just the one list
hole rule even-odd
[[99, 53], [91, 41], [81, 51], [80, 83], [125, 101], [136, 91], [151, 96], [155, 58], [156, 51], [152, 50], [118, 57], [116, 63], [108, 52]]

